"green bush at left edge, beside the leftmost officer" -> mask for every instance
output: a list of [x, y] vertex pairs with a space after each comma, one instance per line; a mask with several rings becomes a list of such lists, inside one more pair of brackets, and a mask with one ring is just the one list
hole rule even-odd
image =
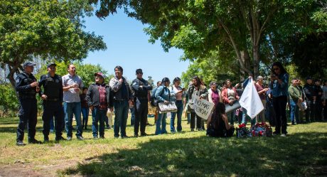
[[15, 117], [19, 105], [14, 88], [11, 85], [0, 85], [0, 98], [0, 116]]

